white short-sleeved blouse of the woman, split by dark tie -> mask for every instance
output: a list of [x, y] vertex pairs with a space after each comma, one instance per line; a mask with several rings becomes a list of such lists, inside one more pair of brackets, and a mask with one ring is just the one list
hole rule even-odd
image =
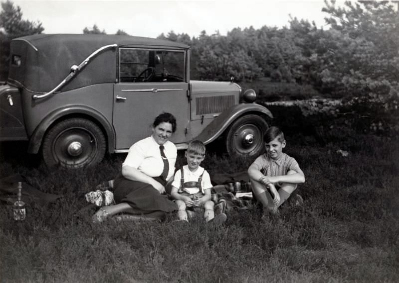
[[[177, 157], [177, 148], [173, 142], [167, 141], [164, 144], [164, 152], [169, 162], [169, 173], [167, 180], [173, 177], [175, 173], [175, 163]], [[159, 144], [152, 136], [139, 140], [129, 149], [129, 153], [122, 164], [131, 166], [150, 177], [158, 177], [164, 169]]]

